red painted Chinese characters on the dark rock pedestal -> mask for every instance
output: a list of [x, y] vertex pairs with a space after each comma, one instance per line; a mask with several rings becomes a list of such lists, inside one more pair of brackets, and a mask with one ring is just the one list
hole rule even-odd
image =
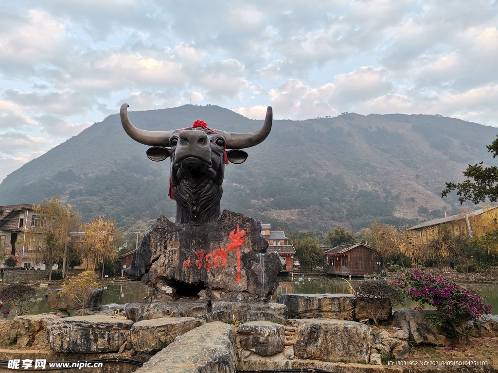
[[[247, 232], [249, 232], [249, 228]], [[188, 257], [187, 260], [183, 261], [183, 269], [186, 270], [192, 267], [192, 264], [198, 270], [204, 267], [208, 271], [212, 270], [213, 267], [225, 267], [228, 263], [228, 252], [235, 249], [237, 257], [237, 282], [241, 282], [241, 255], [239, 249], [246, 242], [243, 238], [245, 235], [246, 231], [244, 229], [241, 230], [239, 224], [237, 224], [237, 228], [230, 232], [229, 238], [231, 241], [226, 249], [214, 249], [213, 253], [206, 253], [204, 249], [198, 250], [194, 253], [196, 257], [195, 262], [192, 263], [191, 257]]]

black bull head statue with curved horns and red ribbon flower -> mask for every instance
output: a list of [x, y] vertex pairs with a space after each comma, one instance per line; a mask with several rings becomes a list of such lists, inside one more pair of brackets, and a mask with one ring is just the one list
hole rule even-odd
[[[171, 158], [169, 196], [176, 200], [176, 222], [202, 224], [219, 217], [225, 164], [243, 163], [240, 149], [261, 143], [270, 133], [271, 106], [263, 126], [255, 132], [234, 133], [207, 127], [196, 120], [192, 127], [172, 131], [145, 131], [128, 119], [128, 104], [121, 105], [123, 128], [136, 142], [149, 145], [147, 157], [155, 162]], [[227, 149], [229, 149], [227, 151]]]

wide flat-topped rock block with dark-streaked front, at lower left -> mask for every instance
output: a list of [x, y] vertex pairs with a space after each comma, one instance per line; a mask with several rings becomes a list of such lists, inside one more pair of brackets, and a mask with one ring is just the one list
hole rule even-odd
[[91, 315], [47, 322], [50, 349], [55, 352], [97, 353], [119, 351], [133, 322]]

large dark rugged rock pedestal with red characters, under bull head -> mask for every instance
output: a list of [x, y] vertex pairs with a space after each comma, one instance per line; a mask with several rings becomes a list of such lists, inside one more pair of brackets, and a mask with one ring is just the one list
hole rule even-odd
[[278, 286], [284, 263], [266, 253], [261, 225], [223, 211], [203, 225], [175, 224], [160, 216], [135, 252], [126, 274], [154, 286], [147, 299], [258, 300]]

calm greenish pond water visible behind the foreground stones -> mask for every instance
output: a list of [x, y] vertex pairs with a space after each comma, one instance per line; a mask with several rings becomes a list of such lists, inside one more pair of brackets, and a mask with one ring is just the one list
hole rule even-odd
[[[354, 287], [357, 287], [363, 280], [349, 281]], [[302, 293], [302, 294], [324, 294], [324, 293], [349, 293], [348, 282], [336, 277], [315, 277], [305, 278], [303, 281], [290, 278], [279, 278], [280, 285], [270, 301], [275, 302], [278, 295], [282, 293]], [[104, 286], [104, 295], [102, 304], [109, 303], [134, 303], [141, 302], [142, 299], [152, 293], [152, 289], [141, 282], [121, 282], [121, 283], [106, 283]], [[474, 289], [483, 297], [483, 302], [493, 306], [491, 313], [498, 314], [498, 284], [474, 283], [464, 284], [466, 288]], [[37, 287], [36, 300], [37, 303], [32, 308], [30, 314], [37, 315], [39, 313], [52, 312], [52, 308], [45, 302], [46, 287]], [[413, 308], [416, 303], [405, 300], [405, 307]], [[396, 309], [402, 306], [396, 307]], [[4, 304], [2, 311], [11, 308], [9, 304]], [[74, 313], [74, 311], [73, 311]], [[13, 318], [13, 314], [8, 316]]]

